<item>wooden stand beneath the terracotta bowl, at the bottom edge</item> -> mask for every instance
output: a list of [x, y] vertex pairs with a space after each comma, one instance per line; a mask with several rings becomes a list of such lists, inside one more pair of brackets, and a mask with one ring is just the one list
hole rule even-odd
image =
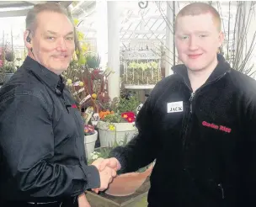
[[[149, 178], [147, 178], [145, 183], [141, 185], [141, 188], [138, 188], [134, 194], [129, 196], [116, 197], [104, 193], [94, 194], [93, 192], [88, 191], [86, 197], [91, 204], [91, 207], [136, 207], [139, 206], [137, 204], [141, 202], [141, 199], [147, 198], [149, 188], [150, 181]], [[147, 205], [140, 205], [140, 207], [147, 207]]]

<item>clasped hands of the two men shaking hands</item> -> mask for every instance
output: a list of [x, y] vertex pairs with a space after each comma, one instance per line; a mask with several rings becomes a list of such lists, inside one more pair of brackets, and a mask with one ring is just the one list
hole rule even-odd
[[116, 172], [120, 170], [120, 162], [112, 157], [109, 159], [99, 158], [98, 160], [92, 163], [93, 166], [97, 167], [99, 170], [99, 178], [100, 178], [100, 187], [93, 188], [93, 192], [96, 194], [99, 191], [104, 191], [109, 187], [109, 183], [113, 181], [113, 178], [116, 177]]

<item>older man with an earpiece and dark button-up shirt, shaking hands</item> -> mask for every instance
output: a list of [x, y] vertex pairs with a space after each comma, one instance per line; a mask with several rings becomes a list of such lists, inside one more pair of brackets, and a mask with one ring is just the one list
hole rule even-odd
[[[88, 166], [83, 120], [60, 76], [75, 50], [74, 27], [57, 3], [26, 19], [29, 56], [0, 91], [0, 206], [88, 207], [84, 191], [115, 177]], [[78, 198], [78, 200], [77, 200]]]

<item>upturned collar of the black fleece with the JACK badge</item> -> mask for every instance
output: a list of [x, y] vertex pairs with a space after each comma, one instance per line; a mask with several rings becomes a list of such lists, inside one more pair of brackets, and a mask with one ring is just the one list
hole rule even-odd
[[[217, 54], [217, 60], [218, 60], [218, 64], [206, 82], [214, 81], [217, 77], [224, 75], [224, 73], [230, 72], [231, 66], [221, 54]], [[182, 77], [184, 77], [184, 80], [186, 82], [189, 82], [187, 67], [184, 64], [173, 66], [172, 70], [174, 73], [177, 73]]]

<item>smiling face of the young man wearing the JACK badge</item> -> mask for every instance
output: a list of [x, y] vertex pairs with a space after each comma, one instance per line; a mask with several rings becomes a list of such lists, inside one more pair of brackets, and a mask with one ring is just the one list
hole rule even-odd
[[216, 53], [224, 39], [211, 13], [179, 16], [175, 44], [180, 61], [192, 71], [200, 71], [217, 62]]

